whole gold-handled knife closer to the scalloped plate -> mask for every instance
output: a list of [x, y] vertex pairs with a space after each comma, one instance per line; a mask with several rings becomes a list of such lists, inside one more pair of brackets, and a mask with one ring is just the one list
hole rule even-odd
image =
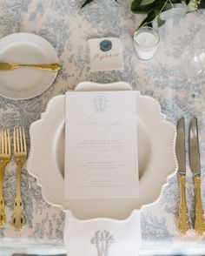
[[190, 229], [186, 199], [186, 148], [184, 118], [179, 119], [176, 127], [175, 154], [178, 162], [178, 177], [180, 185], [180, 205], [177, 221], [178, 231], [182, 236]]

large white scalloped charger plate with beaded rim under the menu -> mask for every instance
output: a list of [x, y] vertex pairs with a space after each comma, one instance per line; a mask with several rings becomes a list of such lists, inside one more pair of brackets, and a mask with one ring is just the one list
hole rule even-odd
[[[84, 82], [76, 91], [130, 90], [127, 83]], [[30, 126], [28, 170], [42, 186], [43, 197], [51, 205], [70, 210], [78, 219], [126, 219], [134, 209], [159, 198], [162, 185], [175, 172], [175, 127], [165, 120], [153, 98], [136, 91], [139, 199], [64, 199], [64, 106], [65, 96], [50, 100], [42, 118]]]

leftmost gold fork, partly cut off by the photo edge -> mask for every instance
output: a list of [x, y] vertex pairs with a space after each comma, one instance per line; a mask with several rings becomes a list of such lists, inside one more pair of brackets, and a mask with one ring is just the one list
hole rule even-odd
[[6, 165], [10, 162], [10, 131], [0, 131], [0, 227], [6, 222], [5, 203], [3, 199], [3, 174]]

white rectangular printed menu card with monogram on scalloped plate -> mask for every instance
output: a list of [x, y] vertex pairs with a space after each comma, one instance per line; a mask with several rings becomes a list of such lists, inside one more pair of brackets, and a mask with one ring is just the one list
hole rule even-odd
[[137, 198], [136, 92], [69, 91], [65, 108], [64, 197]]

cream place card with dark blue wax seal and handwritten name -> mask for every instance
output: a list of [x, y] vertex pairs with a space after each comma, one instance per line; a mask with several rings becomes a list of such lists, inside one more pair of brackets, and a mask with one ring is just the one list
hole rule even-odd
[[122, 43], [117, 37], [89, 39], [91, 71], [122, 70]]

